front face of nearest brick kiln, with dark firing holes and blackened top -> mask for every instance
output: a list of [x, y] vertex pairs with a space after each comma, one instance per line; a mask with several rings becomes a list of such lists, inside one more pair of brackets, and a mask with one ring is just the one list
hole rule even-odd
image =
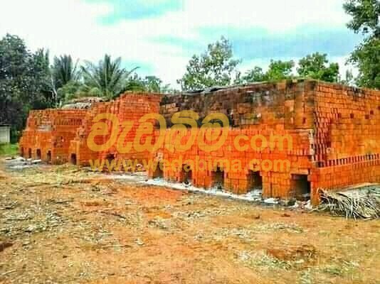
[[[258, 180], [263, 182], [263, 195], [270, 197], [290, 197], [295, 195], [292, 178], [297, 175], [309, 175], [312, 168], [312, 129], [313, 129], [313, 106], [312, 97], [309, 96], [307, 83], [285, 83], [278, 84], [253, 84], [246, 87], [221, 89], [209, 94], [182, 95], [182, 97], [170, 97], [163, 99], [162, 113], [169, 119], [171, 111], [193, 109], [198, 112], [202, 120], [207, 114], [221, 112], [226, 114], [233, 128], [228, 133], [226, 143], [218, 150], [211, 153], [201, 151], [195, 144], [190, 151], [178, 153], [168, 151], [164, 146], [157, 157], [163, 160], [195, 161], [209, 160], [211, 165], [216, 160], [227, 159], [231, 163], [240, 160], [242, 170], [223, 171], [223, 187], [232, 192], [242, 194], [248, 192]], [[250, 137], [261, 135], [270, 141], [270, 136], [291, 136], [292, 148], [274, 149], [264, 148], [256, 151], [249, 144], [245, 151], [237, 151], [234, 146], [236, 136], [245, 135]], [[186, 139], [185, 139], [186, 140]], [[253, 173], [250, 170], [250, 161], [257, 160], [289, 160], [289, 170], [283, 171], [260, 171]], [[230, 165], [231, 165], [230, 163]], [[151, 172], [151, 175], [154, 173]], [[174, 171], [171, 167], [164, 170], [164, 177], [170, 180], [182, 181], [184, 173]], [[254, 177], [254, 178], [253, 178]], [[191, 171], [194, 185], [209, 188], [216, 178], [214, 170]], [[258, 179], [258, 180], [253, 180]]]

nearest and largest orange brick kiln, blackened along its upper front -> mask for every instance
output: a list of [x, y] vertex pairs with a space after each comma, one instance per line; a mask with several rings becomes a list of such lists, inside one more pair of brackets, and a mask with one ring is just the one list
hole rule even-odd
[[[239, 126], [230, 131], [228, 142], [217, 153], [203, 153], [194, 146], [184, 154], [186, 159], [194, 160], [197, 155], [211, 160], [238, 158], [243, 165], [253, 158], [290, 160], [291, 167], [286, 173], [260, 171], [265, 197], [294, 196], [299, 187], [297, 180], [305, 178], [305, 175], [310, 182], [314, 203], [318, 202], [317, 190], [320, 187], [334, 190], [362, 182], [380, 182], [379, 91], [310, 80], [255, 84], [198, 97], [182, 96], [183, 104], [174, 103], [178, 99], [176, 97], [170, 99], [164, 101], [164, 114], [180, 111], [182, 107], [199, 110], [204, 116], [221, 111], [232, 113], [234, 125]], [[219, 109], [225, 107], [233, 111]], [[291, 151], [248, 150], [243, 153], [228, 150], [233, 148], [233, 137], [242, 133], [248, 136], [259, 133], [265, 137], [270, 133], [290, 134], [293, 148]], [[174, 160], [179, 155], [161, 150], [157, 157]], [[196, 186], [211, 186], [211, 172], [195, 171], [192, 175]], [[168, 169], [164, 176], [181, 181], [183, 173]], [[236, 193], [247, 192], [250, 187], [247, 172], [224, 173], [224, 187]]]

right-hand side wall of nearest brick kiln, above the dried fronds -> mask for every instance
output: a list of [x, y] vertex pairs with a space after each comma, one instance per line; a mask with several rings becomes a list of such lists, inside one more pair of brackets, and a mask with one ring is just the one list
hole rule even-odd
[[380, 182], [380, 91], [319, 83], [313, 187]]

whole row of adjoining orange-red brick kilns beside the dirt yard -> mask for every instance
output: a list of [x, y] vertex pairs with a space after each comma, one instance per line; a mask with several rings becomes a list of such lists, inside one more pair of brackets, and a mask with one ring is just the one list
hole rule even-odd
[[[96, 153], [90, 151], [85, 143], [93, 118], [99, 113], [115, 114], [120, 124], [125, 120], [134, 121], [132, 131], [124, 139], [127, 143], [136, 136], [137, 121], [144, 114], [162, 114], [167, 125], [171, 126], [173, 114], [182, 110], [198, 113], [199, 125], [211, 113], [225, 114], [231, 125], [226, 143], [211, 153], [204, 151], [198, 140], [187, 151], [171, 151], [169, 142], [166, 142], [154, 153], [119, 153], [115, 147]], [[69, 119], [74, 114], [77, 120]], [[70, 127], [65, 128], [65, 133], [60, 132], [63, 126], [58, 124], [59, 120], [53, 119], [55, 117], [68, 117], [72, 121]], [[317, 203], [319, 187], [334, 190], [363, 182], [380, 182], [379, 119], [379, 91], [314, 80], [215, 88], [170, 97], [129, 93], [115, 102], [95, 104], [87, 112], [31, 112], [21, 138], [21, 152], [38, 157], [40, 149], [39, 156], [48, 160], [48, 151], [51, 151], [52, 157], [59, 156], [62, 161], [72, 160], [78, 165], [88, 164], [89, 159], [96, 158], [153, 158], [158, 163], [164, 160], [209, 160], [216, 167], [194, 167], [186, 172], [165, 165], [163, 170], [150, 170], [149, 175], [177, 182], [191, 179], [199, 187], [221, 186], [237, 194], [255, 187], [262, 187], [265, 197], [294, 197], [310, 193], [312, 201]], [[158, 135], [159, 132], [156, 133]], [[259, 147], [258, 150], [241, 138], [260, 136], [270, 140], [273, 135], [290, 137], [291, 147], [285, 143], [281, 148], [277, 141], [277, 147]], [[62, 138], [64, 146], [57, 148]], [[102, 144], [107, 138], [98, 136], [96, 141]], [[243, 150], [237, 150], [237, 144]], [[241, 170], [227, 170], [218, 164], [221, 158], [231, 163], [238, 161]], [[273, 164], [286, 160], [289, 164], [285, 170], [269, 166], [255, 170], [251, 167], [252, 160], [266, 160]]]

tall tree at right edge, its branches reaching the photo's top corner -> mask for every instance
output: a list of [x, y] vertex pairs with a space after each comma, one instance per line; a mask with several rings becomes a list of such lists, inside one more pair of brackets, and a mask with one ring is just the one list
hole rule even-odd
[[357, 85], [380, 89], [380, 2], [347, 0], [344, 10], [352, 16], [347, 26], [366, 36], [349, 59], [359, 69]]

